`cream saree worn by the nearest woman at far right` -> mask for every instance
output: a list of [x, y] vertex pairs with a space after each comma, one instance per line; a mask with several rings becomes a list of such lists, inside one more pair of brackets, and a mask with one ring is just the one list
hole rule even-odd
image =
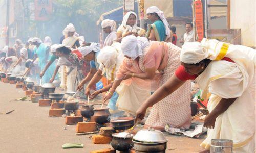
[[212, 61], [196, 79], [202, 89], [202, 98], [209, 97], [211, 112], [222, 98], [237, 98], [216, 118], [214, 129], [201, 146], [209, 149], [211, 139], [233, 140], [233, 152], [255, 151], [255, 99], [251, 96], [246, 68], [228, 61]]

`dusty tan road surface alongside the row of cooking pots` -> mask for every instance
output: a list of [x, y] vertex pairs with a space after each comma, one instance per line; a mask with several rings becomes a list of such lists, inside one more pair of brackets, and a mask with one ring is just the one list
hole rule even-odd
[[[39, 107], [31, 101], [15, 101], [23, 97], [15, 85], [0, 82], [0, 152], [90, 152], [110, 148], [109, 144], [93, 144], [90, 135], [75, 135], [75, 125], [66, 125], [63, 117], [49, 117], [50, 107]], [[166, 152], [197, 152], [202, 139], [167, 136]], [[84, 148], [62, 149], [65, 143], [83, 143]]]

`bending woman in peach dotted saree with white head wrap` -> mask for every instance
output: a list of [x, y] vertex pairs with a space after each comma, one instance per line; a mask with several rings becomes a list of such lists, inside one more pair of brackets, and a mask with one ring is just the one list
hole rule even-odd
[[[126, 58], [105, 100], [116, 90], [119, 94], [118, 110], [135, 115], [150, 96], [151, 88], [158, 87], [158, 84], [153, 83], [160, 79], [160, 85], [164, 84], [178, 68], [180, 48], [172, 43], [148, 42], [145, 37], [136, 39], [135, 36], [127, 36], [121, 42], [121, 49]], [[190, 121], [190, 84], [186, 83], [152, 108], [145, 127], [164, 130], [165, 125], [169, 124], [172, 127], [189, 128]]]

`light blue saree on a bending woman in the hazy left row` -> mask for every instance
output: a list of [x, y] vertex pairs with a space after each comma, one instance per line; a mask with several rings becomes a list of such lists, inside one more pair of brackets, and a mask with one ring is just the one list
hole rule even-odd
[[[44, 70], [46, 63], [48, 60], [50, 60], [49, 54], [47, 54], [49, 47], [45, 45], [44, 43], [41, 43], [40, 46], [37, 48], [35, 47], [35, 54], [38, 56], [38, 66], [40, 67], [40, 70]], [[44, 83], [49, 83], [50, 79], [53, 76], [54, 70], [55, 70], [55, 65], [51, 64], [49, 68], [46, 70], [45, 75], [42, 77], [42, 84]], [[58, 79], [56, 76], [55, 79]]]

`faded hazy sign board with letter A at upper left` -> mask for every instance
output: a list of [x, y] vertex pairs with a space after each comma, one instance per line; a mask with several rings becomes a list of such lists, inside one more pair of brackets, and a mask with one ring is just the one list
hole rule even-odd
[[35, 20], [48, 20], [52, 14], [52, 0], [35, 0]]

